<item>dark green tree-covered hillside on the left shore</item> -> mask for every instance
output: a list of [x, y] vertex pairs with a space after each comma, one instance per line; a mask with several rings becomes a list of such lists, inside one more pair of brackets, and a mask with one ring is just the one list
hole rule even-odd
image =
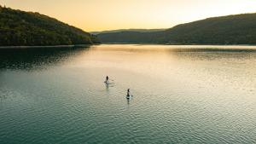
[[95, 36], [49, 16], [0, 6], [0, 46], [98, 43]]

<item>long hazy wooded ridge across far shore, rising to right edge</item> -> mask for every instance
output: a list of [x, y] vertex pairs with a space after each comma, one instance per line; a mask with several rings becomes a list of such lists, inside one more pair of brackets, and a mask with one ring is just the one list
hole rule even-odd
[[102, 43], [256, 44], [256, 13], [197, 20], [160, 32], [112, 32]]

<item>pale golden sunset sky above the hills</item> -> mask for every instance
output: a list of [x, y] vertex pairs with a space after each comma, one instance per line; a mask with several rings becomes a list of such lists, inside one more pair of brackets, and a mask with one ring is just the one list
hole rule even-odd
[[0, 0], [84, 31], [169, 28], [207, 17], [256, 12], [256, 0]]

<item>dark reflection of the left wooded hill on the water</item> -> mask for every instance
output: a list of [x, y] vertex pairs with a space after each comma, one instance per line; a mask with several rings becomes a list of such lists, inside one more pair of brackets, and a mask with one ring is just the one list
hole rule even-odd
[[64, 62], [90, 46], [60, 48], [0, 49], [0, 70], [37, 70]]

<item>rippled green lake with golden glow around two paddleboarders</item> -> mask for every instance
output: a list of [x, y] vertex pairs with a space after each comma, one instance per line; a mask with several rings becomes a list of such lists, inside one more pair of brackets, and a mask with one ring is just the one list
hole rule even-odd
[[256, 143], [256, 46], [102, 44], [0, 56], [0, 143]]

